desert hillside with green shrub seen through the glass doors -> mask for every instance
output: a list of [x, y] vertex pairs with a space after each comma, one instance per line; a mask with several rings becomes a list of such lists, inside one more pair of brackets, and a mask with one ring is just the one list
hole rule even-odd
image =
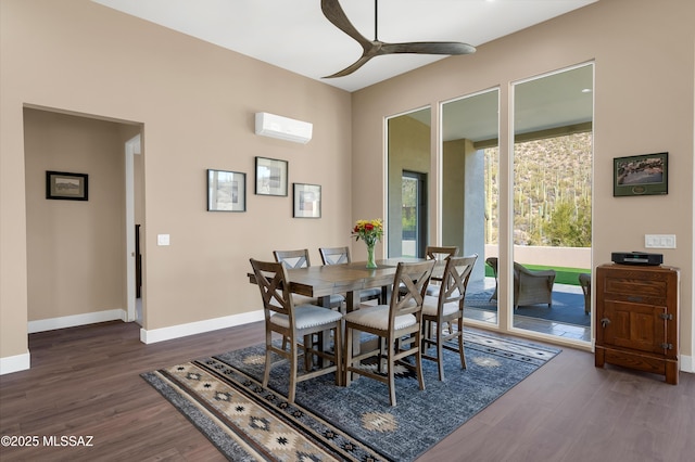
[[[498, 158], [485, 150], [486, 244], [498, 244]], [[517, 143], [514, 165], [514, 244], [591, 247], [592, 133]]]

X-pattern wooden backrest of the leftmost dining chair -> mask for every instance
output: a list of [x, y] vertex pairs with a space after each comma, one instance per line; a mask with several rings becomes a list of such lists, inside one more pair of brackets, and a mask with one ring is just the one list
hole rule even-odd
[[[287, 282], [288, 277], [285, 265], [278, 261], [258, 261], [253, 258], [251, 258], [250, 261], [253, 273], [255, 274], [256, 284], [261, 290], [266, 321], [273, 311], [289, 316], [291, 322], [294, 306], [292, 305], [290, 287]], [[292, 325], [292, 322], [290, 325]]]

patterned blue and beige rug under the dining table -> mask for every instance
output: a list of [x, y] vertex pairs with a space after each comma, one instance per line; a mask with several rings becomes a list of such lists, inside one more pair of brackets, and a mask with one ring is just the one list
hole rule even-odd
[[397, 406], [388, 387], [332, 374], [298, 384], [288, 405], [287, 365], [261, 386], [263, 345], [182, 362], [142, 377], [233, 461], [412, 461], [463, 425], [560, 350], [478, 331], [465, 332], [467, 369], [445, 352], [445, 381], [424, 361], [426, 389], [404, 372]]

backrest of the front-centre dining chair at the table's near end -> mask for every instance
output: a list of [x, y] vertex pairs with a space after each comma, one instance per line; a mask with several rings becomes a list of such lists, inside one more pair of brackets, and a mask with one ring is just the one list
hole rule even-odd
[[[418, 321], [422, 313], [422, 300], [427, 284], [432, 275], [434, 260], [418, 262], [399, 262], [393, 279], [393, 295], [389, 313], [389, 325], [393, 329], [395, 318], [403, 315], [416, 315]], [[397, 290], [396, 287], [400, 287]]]

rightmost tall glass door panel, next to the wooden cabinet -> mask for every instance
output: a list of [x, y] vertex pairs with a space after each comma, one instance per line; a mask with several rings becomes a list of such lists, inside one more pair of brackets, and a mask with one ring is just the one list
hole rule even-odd
[[591, 307], [580, 275], [592, 268], [593, 88], [593, 64], [513, 86], [511, 325], [584, 342]]

